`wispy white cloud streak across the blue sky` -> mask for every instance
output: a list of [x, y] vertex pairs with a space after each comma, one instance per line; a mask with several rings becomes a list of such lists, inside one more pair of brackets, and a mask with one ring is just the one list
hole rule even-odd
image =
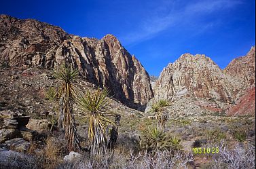
[[[172, 3], [169, 3], [170, 1], [160, 2], [158, 1], [158, 7], [151, 12], [151, 15], [147, 18], [142, 18], [143, 21], [139, 25], [136, 25], [135, 31], [128, 33], [124, 37], [120, 37], [124, 43], [139, 43], [151, 39], [158, 35], [158, 33], [180, 24], [202, 25], [204, 31], [206, 31], [209, 27], [213, 27], [214, 23], [213, 21], [202, 22], [200, 18], [217, 14], [220, 10], [232, 9], [242, 3], [238, 0], [185, 1], [185, 3], [184, 1], [171, 1]], [[183, 7], [179, 7], [179, 3], [183, 3]]]

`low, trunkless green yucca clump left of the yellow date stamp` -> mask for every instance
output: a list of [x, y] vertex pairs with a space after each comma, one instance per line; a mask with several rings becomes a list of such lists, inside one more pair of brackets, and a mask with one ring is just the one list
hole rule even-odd
[[163, 130], [154, 127], [148, 127], [142, 131], [140, 147], [147, 152], [182, 150], [181, 139], [175, 136], [168, 136]]

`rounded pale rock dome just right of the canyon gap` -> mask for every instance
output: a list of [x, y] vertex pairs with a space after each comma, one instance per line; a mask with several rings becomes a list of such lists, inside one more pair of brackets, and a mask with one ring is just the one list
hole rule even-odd
[[178, 100], [181, 97], [234, 101], [234, 88], [211, 58], [183, 54], [164, 68], [156, 82], [155, 98]]

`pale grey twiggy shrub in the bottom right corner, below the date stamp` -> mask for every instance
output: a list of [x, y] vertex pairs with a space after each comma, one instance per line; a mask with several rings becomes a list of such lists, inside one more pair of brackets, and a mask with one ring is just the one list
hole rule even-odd
[[238, 143], [234, 149], [221, 145], [211, 168], [255, 168], [255, 145]]

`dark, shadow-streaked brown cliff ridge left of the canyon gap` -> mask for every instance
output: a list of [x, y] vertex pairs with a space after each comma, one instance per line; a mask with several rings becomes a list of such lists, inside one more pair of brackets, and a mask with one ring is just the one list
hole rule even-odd
[[0, 61], [11, 67], [52, 69], [69, 62], [86, 81], [107, 87], [117, 100], [143, 109], [153, 92], [149, 75], [113, 35], [81, 38], [37, 20], [0, 16]]

